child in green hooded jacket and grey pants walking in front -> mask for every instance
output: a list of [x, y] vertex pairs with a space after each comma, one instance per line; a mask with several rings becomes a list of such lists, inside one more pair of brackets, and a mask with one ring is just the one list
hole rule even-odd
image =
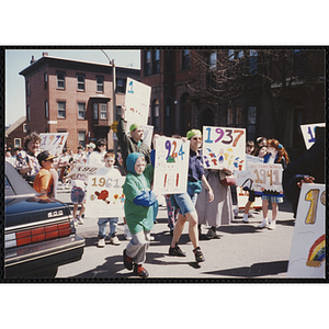
[[139, 152], [129, 154], [126, 164], [128, 173], [123, 185], [126, 196], [124, 209], [132, 239], [123, 253], [124, 265], [127, 270], [134, 268], [137, 276], [148, 277], [143, 263], [154, 227], [152, 205], [157, 202], [150, 190], [155, 170], [152, 164], [146, 167], [145, 156]]

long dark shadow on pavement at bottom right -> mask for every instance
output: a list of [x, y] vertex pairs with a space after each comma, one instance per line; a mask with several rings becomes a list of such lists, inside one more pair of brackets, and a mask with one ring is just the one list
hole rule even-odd
[[204, 272], [203, 274], [220, 275], [220, 276], [238, 276], [238, 277], [259, 277], [265, 275], [275, 275], [286, 273], [288, 261], [274, 261], [256, 263], [247, 268], [236, 268], [222, 271]]

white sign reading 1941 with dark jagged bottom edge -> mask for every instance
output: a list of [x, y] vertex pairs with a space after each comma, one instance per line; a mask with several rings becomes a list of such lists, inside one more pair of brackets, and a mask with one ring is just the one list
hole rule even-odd
[[[281, 163], [250, 162], [251, 190], [263, 195], [283, 196]], [[249, 185], [248, 185], [249, 186]]]

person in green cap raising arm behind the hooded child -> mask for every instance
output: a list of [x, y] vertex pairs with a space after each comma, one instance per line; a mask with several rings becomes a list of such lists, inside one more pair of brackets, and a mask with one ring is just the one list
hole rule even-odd
[[121, 147], [124, 172], [127, 173], [126, 159], [128, 155], [133, 152], [143, 154], [146, 162], [150, 163], [150, 149], [141, 139], [144, 133], [143, 126], [136, 123], [132, 124], [129, 127], [131, 136], [128, 136], [125, 132], [125, 123], [123, 110], [122, 117], [117, 124], [117, 139]]

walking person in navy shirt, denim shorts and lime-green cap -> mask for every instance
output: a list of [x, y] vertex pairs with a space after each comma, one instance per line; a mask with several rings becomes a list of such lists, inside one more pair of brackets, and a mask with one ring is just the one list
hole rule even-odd
[[214, 193], [208, 184], [202, 164], [198, 149], [202, 144], [202, 134], [197, 129], [191, 129], [186, 134], [190, 140], [190, 159], [189, 159], [189, 173], [188, 173], [188, 191], [184, 193], [172, 194], [174, 206], [179, 207], [179, 217], [173, 228], [173, 237], [169, 248], [169, 254], [185, 257], [186, 254], [178, 246], [178, 241], [182, 235], [186, 219], [189, 219], [189, 236], [193, 245], [193, 253], [196, 262], [205, 261], [204, 256], [198, 246], [197, 235], [197, 213], [195, 211], [195, 202], [197, 194], [202, 190], [202, 183], [208, 190], [209, 202], [214, 200]]

